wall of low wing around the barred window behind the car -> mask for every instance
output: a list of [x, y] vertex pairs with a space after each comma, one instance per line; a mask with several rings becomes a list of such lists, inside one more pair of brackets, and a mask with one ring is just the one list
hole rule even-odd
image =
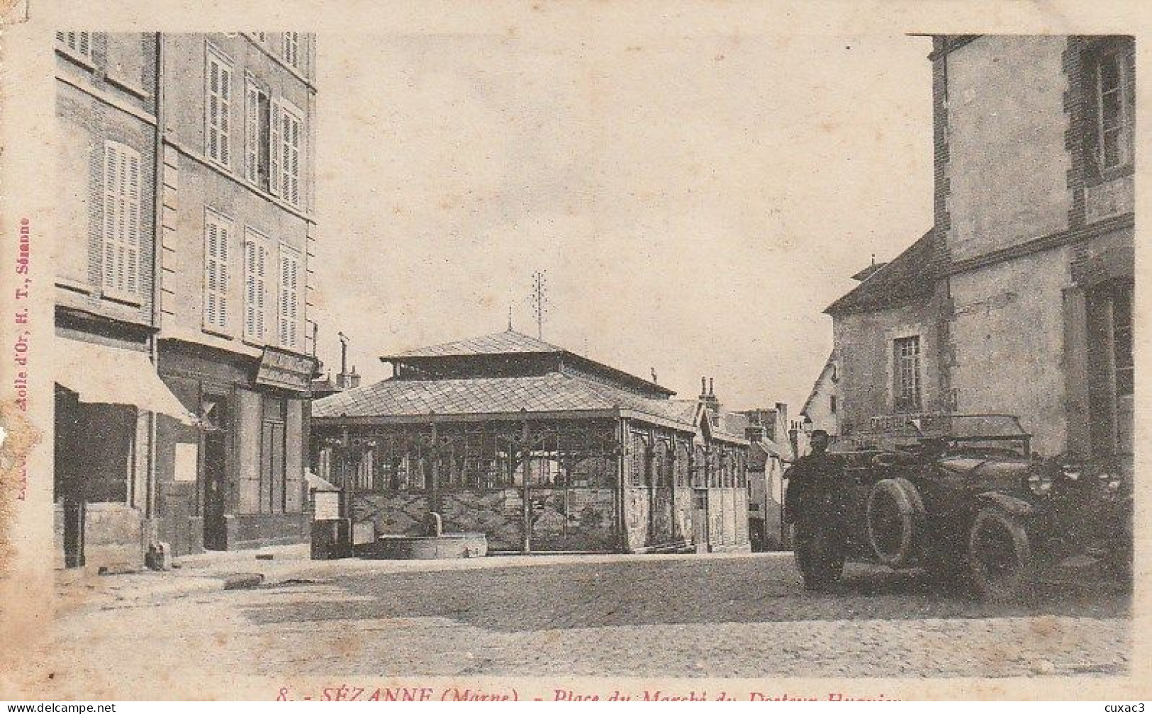
[[893, 340], [897, 337], [920, 339], [922, 411], [947, 407], [939, 374], [939, 310], [938, 299], [926, 297], [896, 307], [833, 317], [841, 434], [866, 430], [872, 417], [893, 412]]

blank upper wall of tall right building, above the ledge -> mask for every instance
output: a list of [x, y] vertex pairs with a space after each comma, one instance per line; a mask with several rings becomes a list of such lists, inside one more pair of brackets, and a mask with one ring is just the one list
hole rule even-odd
[[941, 60], [953, 259], [1068, 227], [1067, 46], [1060, 36], [986, 36]]

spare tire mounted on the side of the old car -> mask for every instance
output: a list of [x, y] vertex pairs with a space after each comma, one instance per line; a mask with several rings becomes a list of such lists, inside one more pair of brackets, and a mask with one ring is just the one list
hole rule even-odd
[[867, 494], [867, 539], [877, 560], [893, 568], [916, 562], [924, 534], [924, 501], [905, 478], [877, 481]]

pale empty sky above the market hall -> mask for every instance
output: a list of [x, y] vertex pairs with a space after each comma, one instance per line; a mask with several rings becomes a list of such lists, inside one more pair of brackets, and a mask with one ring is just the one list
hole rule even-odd
[[[722, 8], [721, 3], [717, 5]], [[738, 20], [738, 18], [737, 18]], [[639, 21], [318, 40], [319, 354], [514, 327], [803, 405], [823, 310], [931, 226], [930, 40]]]

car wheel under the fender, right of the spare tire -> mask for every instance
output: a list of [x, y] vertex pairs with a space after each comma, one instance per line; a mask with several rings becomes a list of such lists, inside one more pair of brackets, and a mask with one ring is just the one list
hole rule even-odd
[[995, 507], [976, 515], [968, 537], [972, 587], [985, 600], [1011, 600], [1032, 580], [1032, 548], [1020, 518]]

